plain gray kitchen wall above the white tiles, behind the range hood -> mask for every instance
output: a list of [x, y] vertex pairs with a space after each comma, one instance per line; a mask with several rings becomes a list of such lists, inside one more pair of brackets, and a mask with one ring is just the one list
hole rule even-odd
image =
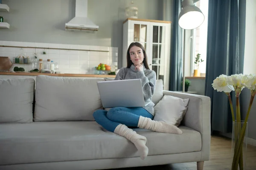
[[[133, 0], [143, 19], [162, 18], [162, 0]], [[94, 33], [64, 31], [75, 16], [75, 0], [3, 0], [10, 12], [0, 12], [10, 29], [0, 29], [0, 40], [100, 45], [119, 48], [122, 63], [122, 22], [130, 0], [88, 0], [88, 17], [99, 26]]]

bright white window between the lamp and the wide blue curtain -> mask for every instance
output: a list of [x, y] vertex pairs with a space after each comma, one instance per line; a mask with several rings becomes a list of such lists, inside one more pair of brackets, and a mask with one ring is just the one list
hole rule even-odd
[[[192, 31], [192, 51], [191, 51], [191, 61], [192, 61], [192, 70], [191, 73], [193, 75], [194, 69], [198, 69], [200, 73], [206, 73], [206, 52], [207, 52], [207, 25], [208, 25], [208, 0], [199, 0], [195, 3], [195, 6], [201, 9], [204, 14], [204, 23], [195, 28]], [[200, 60], [203, 59], [204, 62], [199, 63], [199, 67], [195, 64], [195, 57], [197, 54], [200, 55]]]

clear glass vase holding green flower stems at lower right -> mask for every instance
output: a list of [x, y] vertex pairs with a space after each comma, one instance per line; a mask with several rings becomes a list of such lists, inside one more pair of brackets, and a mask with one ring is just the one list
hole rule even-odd
[[[244, 131], [244, 139], [241, 138], [242, 136], [242, 128], [245, 125]], [[244, 121], [237, 122], [233, 121], [232, 126], [232, 144], [231, 144], [231, 154], [232, 154], [232, 164], [231, 170], [246, 170], [246, 152], [247, 152], [247, 133], [248, 133], [248, 122], [245, 123]], [[239, 140], [239, 137], [241, 140]], [[242, 144], [241, 144], [242, 143]], [[239, 144], [241, 144], [241, 154], [239, 159], [236, 158], [239, 154], [236, 154], [239, 150]], [[233, 166], [233, 164], [238, 164], [238, 166]]]

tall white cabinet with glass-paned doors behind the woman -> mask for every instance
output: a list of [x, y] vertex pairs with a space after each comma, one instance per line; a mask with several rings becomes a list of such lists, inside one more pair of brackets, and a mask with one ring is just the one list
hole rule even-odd
[[140, 42], [148, 56], [148, 65], [163, 80], [169, 90], [171, 22], [128, 18], [123, 23], [122, 67], [126, 67], [126, 53], [131, 42]]

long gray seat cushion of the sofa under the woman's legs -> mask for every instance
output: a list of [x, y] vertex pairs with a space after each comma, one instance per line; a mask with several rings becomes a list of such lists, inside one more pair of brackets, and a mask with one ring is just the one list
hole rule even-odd
[[[200, 151], [201, 134], [180, 129], [181, 135], [136, 131], [147, 138], [148, 155]], [[0, 146], [0, 165], [139, 157], [133, 143], [95, 121], [1, 124]]]

